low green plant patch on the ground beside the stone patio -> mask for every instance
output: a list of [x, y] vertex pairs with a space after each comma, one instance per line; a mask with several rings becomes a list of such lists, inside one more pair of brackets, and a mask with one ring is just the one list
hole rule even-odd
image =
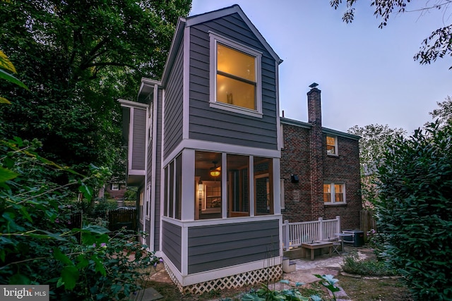
[[396, 271], [389, 268], [385, 262], [376, 259], [359, 259], [357, 252], [351, 252], [344, 257], [342, 269], [350, 274], [363, 276], [393, 276]]

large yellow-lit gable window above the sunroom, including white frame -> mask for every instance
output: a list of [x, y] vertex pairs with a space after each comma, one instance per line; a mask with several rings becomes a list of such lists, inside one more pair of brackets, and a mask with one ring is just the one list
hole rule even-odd
[[210, 32], [210, 106], [261, 117], [261, 56]]

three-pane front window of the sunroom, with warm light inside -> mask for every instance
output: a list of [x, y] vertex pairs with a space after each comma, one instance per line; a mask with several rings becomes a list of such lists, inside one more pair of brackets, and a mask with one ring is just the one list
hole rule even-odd
[[194, 185], [196, 220], [274, 214], [271, 158], [196, 151]]

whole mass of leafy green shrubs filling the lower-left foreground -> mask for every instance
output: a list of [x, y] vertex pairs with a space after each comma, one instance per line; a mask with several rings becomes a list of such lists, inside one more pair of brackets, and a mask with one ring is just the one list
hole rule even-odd
[[[0, 140], [0, 284], [48, 284], [53, 300], [121, 300], [140, 288], [138, 280], [158, 262], [136, 235], [102, 226], [73, 228], [78, 186], [90, 202], [89, 177], [42, 158], [37, 141]], [[51, 171], [49, 171], [51, 169]], [[69, 173], [58, 185], [49, 173]], [[77, 204], [77, 206], [76, 206]]]

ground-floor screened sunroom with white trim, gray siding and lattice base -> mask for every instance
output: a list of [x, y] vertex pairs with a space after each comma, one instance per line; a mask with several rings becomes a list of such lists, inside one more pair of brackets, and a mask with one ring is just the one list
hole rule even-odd
[[164, 175], [162, 254], [181, 290], [280, 275], [279, 159], [184, 149]]

